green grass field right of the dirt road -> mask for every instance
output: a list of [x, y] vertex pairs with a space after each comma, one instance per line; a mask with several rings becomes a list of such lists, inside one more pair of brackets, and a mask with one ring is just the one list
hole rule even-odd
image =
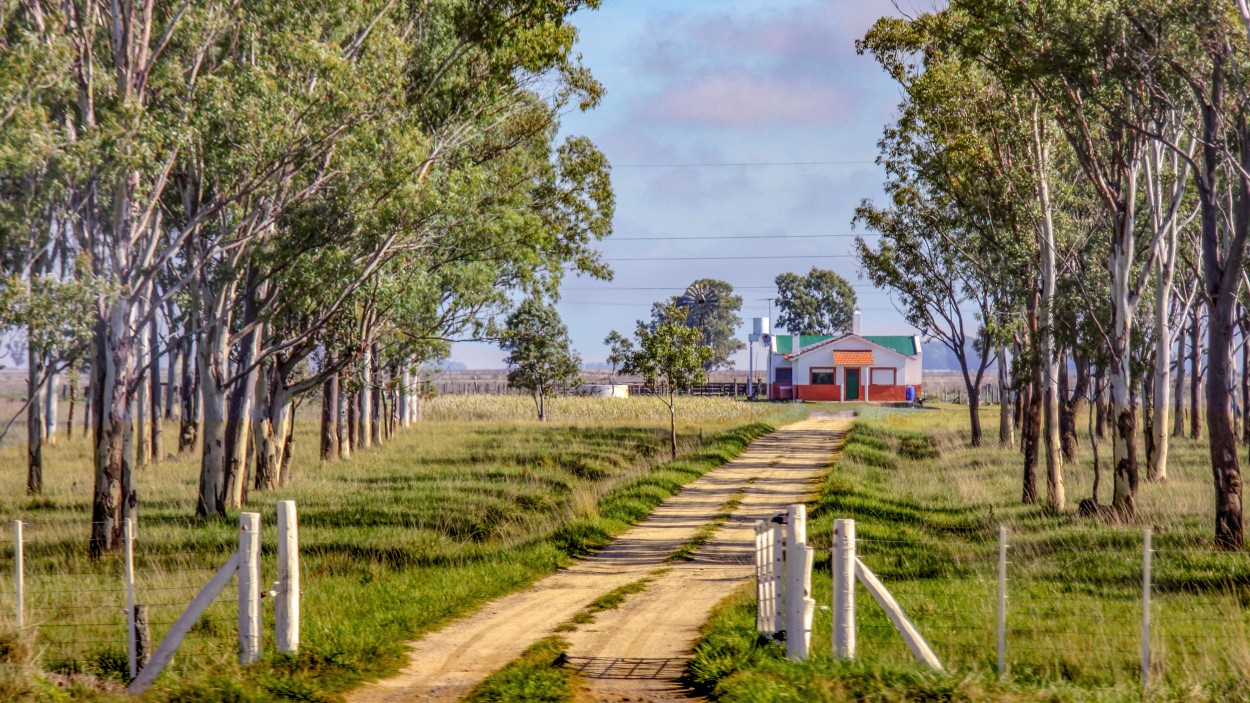
[[[996, 418], [988, 409], [986, 427]], [[919, 670], [880, 608], [856, 595], [858, 660], [831, 658], [829, 610], [814, 657], [794, 663], [754, 633], [754, 592], [708, 624], [691, 683], [728, 702], [1140, 700], [1141, 532], [1152, 528], [1150, 700], [1250, 698], [1250, 558], [1211, 547], [1205, 442], [1174, 445], [1170, 480], [1142, 484], [1140, 518], [1109, 525], [1070, 507], [1020, 504], [1020, 455], [966, 445], [966, 410], [856, 423], [812, 507], [814, 598], [831, 599], [834, 518], [854, 518], [859, 553], [928, 638], [948, 674]], [[1101, 447], [1104, 469], [1109, 447]], [[1091, 454], [1065, 467], [1075, 504], [1090, 494]], [[1039, 478], [1044, 482], [1044, 475]], [[1104, 474], [1102, 498], [1110, 480]], [[1045, 492], [1044, 484], [1041, 487]], [[1008, 677], [996, 674], [999, 525], [1009, 537]]]

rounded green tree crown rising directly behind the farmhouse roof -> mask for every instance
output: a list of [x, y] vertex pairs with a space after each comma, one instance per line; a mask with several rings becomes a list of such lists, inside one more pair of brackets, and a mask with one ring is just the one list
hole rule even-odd
[[776, 326], [791, 334], [842, 334], [851, 330], [855, 289], [834, 271], [812, 269], [805, 276], [776, 278]]

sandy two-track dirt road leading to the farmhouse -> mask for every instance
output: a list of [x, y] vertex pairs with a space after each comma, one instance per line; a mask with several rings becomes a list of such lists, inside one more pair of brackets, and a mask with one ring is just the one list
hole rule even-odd
[[[751, 575], [751, 523], [809, 495], [849, 427], [849, 419], [811, 418], [755, 440], [602, 552], [414, 642], [396, 677], [349, 700], [458, 700], [599, 595], [666, 565], [672, 568], [644, 593], [571, 633], [569, 653], [590, 678], [592, 694], [605, 700], [680, 699], [674, 682], [699, 625]], [[736, 494], [742, 495], [732, 518], [692, 562], [665, 562]]]

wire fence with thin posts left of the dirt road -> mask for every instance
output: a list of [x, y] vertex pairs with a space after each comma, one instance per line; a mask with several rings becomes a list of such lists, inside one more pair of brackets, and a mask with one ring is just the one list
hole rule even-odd
[[[12, 523], [0, 549], [0, 632], [18, 632], [48, 672], [129, 680], [124, 550], [92, 559], [89, 520], [22, 520], [21, 627]], [[238, 545], [225, 525], [140, 523], [134, 539], [135, 603], [146, 608], [151, 647], [169, 633], [196, 593]], [[226, 589], [199, 619], [171, 662], [228, 662], [238, 654], [238, 594]], [[205, 662], [200, 662], [204, 664]]]

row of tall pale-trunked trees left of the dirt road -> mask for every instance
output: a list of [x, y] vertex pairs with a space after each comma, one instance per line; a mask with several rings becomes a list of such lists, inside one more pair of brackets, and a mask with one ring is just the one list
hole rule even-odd
[[556, 138], [601, 94], [569, 23], [596, 5], [0, 5], [0, 324], [28, 344], [29, 492], [59, 378], [90, 377], [99, 554], [160, 418], [202, 448], [196, 513], [222, 514], [289, 479], [300, 397], [324, 390], [322, 455], [366, 448], [514, 294], [608, 278], [608, 164]]

